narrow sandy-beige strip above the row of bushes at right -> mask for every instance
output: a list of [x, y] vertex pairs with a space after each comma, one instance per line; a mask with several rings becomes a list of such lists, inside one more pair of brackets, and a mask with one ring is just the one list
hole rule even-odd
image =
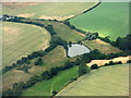
[[131, 56], [128, 57], [119, 57], [110, 60], [92, 60], [90, 63], [87, 63], [87, 66], [92, 66], [93, 64], [97, 65], [105, 65], [105, 63], [109, 63], [109, 61], [118, 62], [121, 61], [122, 63], [126, 63], [129, 59], [131, 59]]

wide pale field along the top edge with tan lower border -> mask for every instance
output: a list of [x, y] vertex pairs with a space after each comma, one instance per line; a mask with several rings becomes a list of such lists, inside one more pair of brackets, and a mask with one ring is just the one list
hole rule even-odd
[[66, 20], [86, 11], [97, 2], [4, 2], [3, 14], [35, 19]]

